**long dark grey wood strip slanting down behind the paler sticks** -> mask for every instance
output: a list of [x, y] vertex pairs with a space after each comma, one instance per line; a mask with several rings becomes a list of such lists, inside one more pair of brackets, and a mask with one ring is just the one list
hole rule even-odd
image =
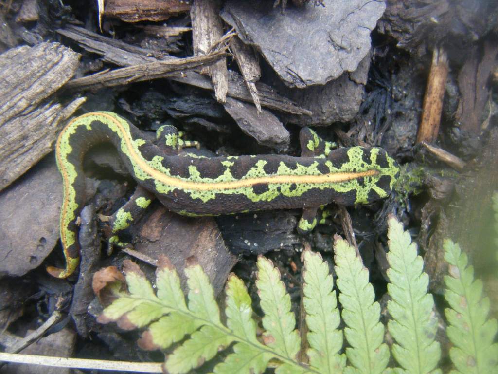
[[[69, 32], [66, 32], [67, 29], [69, 29]], [[150, 55], [150, 51], [148, 51], [147, 49], [134, 47], [121, 41], [107, 38], [94, 32], [85, 30], [81, 27], [71, 26], [70, 28], [66, 28], [63, 30], [63, 34], [65, 36], [76, 40], [81, 47], [85, 48], [88, 51], [101, 54], [103, 55], [104, 61], [112, 62], [119, 66], [131, 66], [132, 61], [141, 59], [141, 57], [137, 56], [137, 54], [142, 54], [143, 56], [147, 56], [148, 54]], [[60, 30], [58, 32], [60, 32]], [[125, 46], [122, 47], [121, 44], [124, 44]], [[104, 51], [112, 52], [106, 53], [104, 55]], [[159, 61], [152, 56], [149, 56], [148, 58], [151, 58], [154, 61]], [[168, 58], [173, 60], [176, 59], [172, 56], [168, 56]], [[183, 84], [200, 87], [206, 90], [213, 90], [213, 84], [211, 83], [211, 80], [195, 71], [188, 71], [184, 74], [178, 74], [169, 77], [169, 79]], [[244, 87], [243, 83], [244, 80], [239, 74], [233, 71], [229, 72], [228, 95], [239, 100], [252, 102], [251, 95], [248, 89]], [[255, 86], [258, 90], [261, 105], [263, 107], [290, 114], [312, 114], [309, 110], [299, 107], [291, 100], [279, 96], [270, 86], [267, 86], [263, 83], [256, 83]]]

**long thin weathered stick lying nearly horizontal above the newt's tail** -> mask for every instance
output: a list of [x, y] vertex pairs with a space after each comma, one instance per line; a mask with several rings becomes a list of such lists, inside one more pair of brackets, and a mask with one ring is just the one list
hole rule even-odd
[[224, 50], [205, 56], [179, 58], [176, 60], [156, 61], [145, 64], [123, 67], [121, 69], [102, 71], [83, 78], [73, 79], [65, 85], [66, 89], [100, 89], [125, 85], [145, 80], [167, 78], [175, 73], [183, 73], [202, 65], [211, 64], [226, 56]]

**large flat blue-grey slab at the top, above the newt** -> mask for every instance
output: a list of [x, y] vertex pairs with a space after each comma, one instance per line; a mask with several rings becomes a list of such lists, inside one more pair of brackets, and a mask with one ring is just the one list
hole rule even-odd
[[221, 16], [286, 85], [305, 88], [355, 71], [370, 51], [370, 33], [384, 9], [384, 1], [335, 0], [282, 14], [271, 1], [228, 0]]

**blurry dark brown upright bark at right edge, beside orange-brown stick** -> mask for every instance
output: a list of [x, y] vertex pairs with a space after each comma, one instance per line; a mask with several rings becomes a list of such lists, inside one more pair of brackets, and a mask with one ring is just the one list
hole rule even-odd
[[488, 38], [482, 44], [472, 49], [458, 74], [458, 87], [462, 96], [455, 117], [460, 129], [475, 135], [481, 133], [484, 107], [490, 95], [487, 82], [495, 67], [498, 52], [497, 39]]

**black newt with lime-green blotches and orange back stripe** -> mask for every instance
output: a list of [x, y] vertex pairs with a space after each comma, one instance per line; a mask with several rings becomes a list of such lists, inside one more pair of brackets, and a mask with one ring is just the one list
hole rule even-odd
[[353, 205], [386, 197], [399, 173], [396, 162], [380, 148], [330, 151], [330, 144], [307, 128], [300, 134], [301, 157], [177, 155], [195, 142], [182, 141], [171, 126], [159, 129], [157, 135], [166, 150], [142, 139], [137, 128], [111, 112], [85, 114], [62, 130], [56, 156], [64, 181], [60, 230], [67, 264], [66, 269], [49, 267], [50, 274], [64, 278], [78, 265], [76, 218], [85, 201], [81, 160], [96, 143], [114, 144], [143, 187], [143, 193], [115, 214], [113, 232], [127, 227], [133, 210], [145, 208], [152, 194], [168, 209], [185, 215], [302, 207], [298, 228], [306, 232], [316, 224], [320, 205], [332, 201]]

